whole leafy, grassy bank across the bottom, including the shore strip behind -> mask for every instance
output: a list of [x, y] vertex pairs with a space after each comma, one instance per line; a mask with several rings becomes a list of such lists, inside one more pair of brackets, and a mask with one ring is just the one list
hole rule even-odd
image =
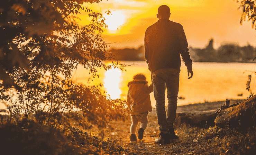
[[[239, 102], [231, 100], [232, 103]], [[178, 106], [179, 112], [216, 110], [225, 101]], [[130, 118], [113, 121], [106, 128], [92, 127], [82, 130], [74, 127], [52, 128], [36, 122], [1, 125], [0, 136], [3, 154], [253, 154], [255, 153], [256, 128], [239, 131], [229, 128], [175, 126], [179, 140], [171, 144], [155, 144], [159, 130], [156, 115], [149, 113], [149, 123], [143, 141], [129, 141]], [[16, 148], [16, 149], [13, 149]]]

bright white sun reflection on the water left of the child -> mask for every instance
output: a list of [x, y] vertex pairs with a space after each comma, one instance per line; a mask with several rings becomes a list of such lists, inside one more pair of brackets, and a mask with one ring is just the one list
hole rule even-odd
[[121, 71], [119, 69], [110, 69], [105, 72], [104, 87], [106, 88], [107, 95], [115, 100], [120, 98], [121, 89], [119, 83], [121, 81]]

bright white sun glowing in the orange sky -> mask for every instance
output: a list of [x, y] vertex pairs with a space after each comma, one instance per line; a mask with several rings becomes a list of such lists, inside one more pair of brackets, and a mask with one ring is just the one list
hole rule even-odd
[[125, 15], [122, 11], [112, 11], [111, 14], [105, 14], [105, 23], [108, 25], [108, 30], [116, 31], [122, 24], [125, 23]]

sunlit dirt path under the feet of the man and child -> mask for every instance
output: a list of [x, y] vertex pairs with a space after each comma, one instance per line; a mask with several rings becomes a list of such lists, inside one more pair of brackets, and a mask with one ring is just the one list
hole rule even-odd
[[[197, 137], [184, 135], [184, 131], [179, 133], [180, 139], [171, 141], [171, 144], [155, 144], [154, 140], [158, 137], [159, 130], [154, 116], [149, 116], [149, 123], [145, 130], [143, 141], [138, 141], [135, 144], [131, 144], [129, 140], [130, 122], [128, 119], [125, 122], [113, 122], [113, 127], [115, 126], [116, 128], [111, 131], [111, 134], [122, 141], [135, 154], [195, 154], [194, 146], [198, 145], [198, 143], [193, 142], [193, 138]], [[177, 132], [180, 130], [181, 128], [178, 128]]]

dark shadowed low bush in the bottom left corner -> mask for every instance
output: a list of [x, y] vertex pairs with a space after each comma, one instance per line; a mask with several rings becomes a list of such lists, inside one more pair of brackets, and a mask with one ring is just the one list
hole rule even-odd
[[26, 126], [22, 123], [1, 124], [0, 136], [2, 154], [78, 154], [62, 132], [33, 121], [27, 122]]

